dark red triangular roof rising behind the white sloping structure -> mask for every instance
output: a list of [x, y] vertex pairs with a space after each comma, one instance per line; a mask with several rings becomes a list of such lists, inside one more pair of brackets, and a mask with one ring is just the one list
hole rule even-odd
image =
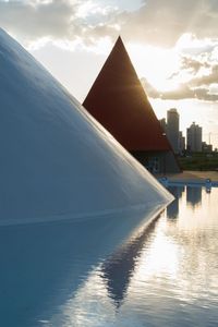
[[120, 37], [83, 106], [128, 150], [171, 150]]

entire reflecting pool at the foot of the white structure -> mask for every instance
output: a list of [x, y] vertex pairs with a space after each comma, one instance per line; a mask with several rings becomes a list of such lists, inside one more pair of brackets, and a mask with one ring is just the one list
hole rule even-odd
[[218, 189], [169, 191], [174, 202], [149, 226], [111, 217], [5, 227], [2, 326], [218, 326]]

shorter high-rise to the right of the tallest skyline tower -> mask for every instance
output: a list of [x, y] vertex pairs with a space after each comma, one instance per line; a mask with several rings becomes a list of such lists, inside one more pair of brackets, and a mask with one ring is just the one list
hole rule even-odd
[[202, 152], [202, 128], [192, 123], [192, 125], [187, 129], [187, 144], [186, 148], [190, 152]]

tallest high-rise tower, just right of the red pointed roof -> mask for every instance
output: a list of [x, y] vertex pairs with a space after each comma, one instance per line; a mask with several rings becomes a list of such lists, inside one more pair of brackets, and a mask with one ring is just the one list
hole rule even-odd
[[167, 111], [167, 136], [175, 154], [179, 153], [179, 122], [180, 116], [177, 109]]

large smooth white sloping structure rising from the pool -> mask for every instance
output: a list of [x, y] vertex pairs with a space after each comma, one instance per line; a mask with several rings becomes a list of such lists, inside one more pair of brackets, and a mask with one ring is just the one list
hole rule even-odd
[[0, 166], [0, 225], [146, 214], [172, 199], [2, 29]]

